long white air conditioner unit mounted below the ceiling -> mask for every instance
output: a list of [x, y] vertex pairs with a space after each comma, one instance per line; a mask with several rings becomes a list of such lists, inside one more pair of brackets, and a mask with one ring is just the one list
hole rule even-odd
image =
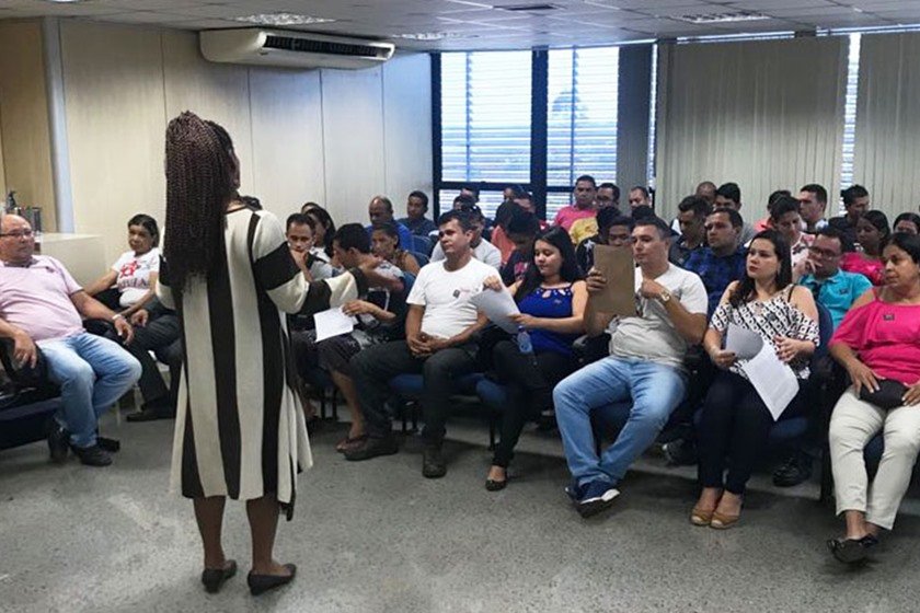
[[199, 33], [210, 61], [291, 68], [369, 68], [393, 56], [392, 43], [287, 30], [210, 30]]

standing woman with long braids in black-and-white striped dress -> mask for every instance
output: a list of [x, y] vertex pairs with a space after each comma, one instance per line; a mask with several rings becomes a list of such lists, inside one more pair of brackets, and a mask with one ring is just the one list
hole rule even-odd
[[297, 473], [312, 464], [295, 401], [287, 313], [315, 312], [367, 291], [368, 269], [308, 282], [271, 212], [240, 201], [227, 131], [183, 113], [166, 128], [165, 263], [157, 293], [182, 322], [185, 350], [171, 484], [193, 498], [205, 550], [202, 582], [235, 574], [221, 546], [227, 497], [246, 501], [254, 595], [289, 582], [273, 557], [279, 511], [290, 519]]

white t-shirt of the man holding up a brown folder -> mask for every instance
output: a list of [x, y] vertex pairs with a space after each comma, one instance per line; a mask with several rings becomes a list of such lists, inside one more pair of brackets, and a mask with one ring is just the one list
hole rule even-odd
[[[679, 300], [690, 313], [706, 314], [709, 297], [703, 281], [695, 273], [668, 265], [667, 271], [655, 281], [668, 288], [671, 300]], [[642, 286], [642, 269], [635, 269], [635, 290]], [[674, 327], [665, 305], [648, 298], [636, 298], [642, 316], [614, 317], [610, 322], [610, 354], [620, 358], [639, 358], [683, 368], [689, 344]]]

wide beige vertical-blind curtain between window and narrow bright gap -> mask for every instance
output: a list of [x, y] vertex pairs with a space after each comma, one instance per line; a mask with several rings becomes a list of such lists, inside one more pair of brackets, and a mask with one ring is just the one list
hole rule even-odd
[[659, 215], [676, 215], [701, 181], [737, 183], [750, 221], [767, 215], [774, 189], [839, 192], [847, 45], [842, 36], [663, 45]]

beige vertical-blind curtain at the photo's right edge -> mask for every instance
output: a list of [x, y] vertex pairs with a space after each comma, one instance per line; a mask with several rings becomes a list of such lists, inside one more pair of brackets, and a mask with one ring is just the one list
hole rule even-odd
[[920, 204], [920, 34], [865, 35], [853, 178], [888, 216]]

